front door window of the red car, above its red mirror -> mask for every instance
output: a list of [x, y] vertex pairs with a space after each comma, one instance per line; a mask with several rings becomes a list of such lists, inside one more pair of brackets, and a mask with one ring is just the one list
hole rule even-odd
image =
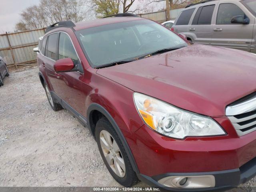
[[65, 33], [60, 33], [59, 59], [63, 58], [71, 58], [74, 62], [78, 61], [78, 56], [69, 36]]

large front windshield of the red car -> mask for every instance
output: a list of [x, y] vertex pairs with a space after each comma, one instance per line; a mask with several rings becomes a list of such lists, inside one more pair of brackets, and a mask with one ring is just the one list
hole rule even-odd
[[92, 67], [188, 45], [175, 33], [150, 20], [108, 24], [75, 33]]

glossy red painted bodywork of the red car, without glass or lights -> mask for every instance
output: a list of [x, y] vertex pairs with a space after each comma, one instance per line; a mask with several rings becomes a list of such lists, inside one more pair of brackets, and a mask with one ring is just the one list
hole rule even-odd
[[[141, 18], [81, 22], [76, 30]], [[238, 137], [224, 116], [226, 106], [256, 90], [255, 56], [248, 52], [192, 45], [109, 68], [91, 68], [74, 32], [67, 32], [84, 74], [54, 72], [54, 61], [38, 54], [50, 90], [86, 117], [91, 103], [103, 106], [122, 130], [142, 174], [208, 172], [238, 168], [256, 156], [256, 132]], [[171, 32], [171, 31], [170, 31]], [[44, 65], [43, 65], [44, 63]], [[215, 116], [227, 136], [175, 140], [162, 136], [140, 118], [133, 93], [141, 92], [180, 108]]]

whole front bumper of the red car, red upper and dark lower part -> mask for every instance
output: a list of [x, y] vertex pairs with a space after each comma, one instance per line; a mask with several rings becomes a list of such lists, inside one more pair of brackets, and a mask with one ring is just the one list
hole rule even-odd
[[175, 175], [214, 175], [214, 188], [196, 191], [226, 190], [248, 181], [256, 173], [256, 131], [239, 137], [228, 118], [214, 120], [226, 130], [226, 136], [177, 140], [146, 125], [136, 132], [123, 131], [138, 166], [138, 177], [172, 191], [181, 189], [162, 186], [158, 180]]

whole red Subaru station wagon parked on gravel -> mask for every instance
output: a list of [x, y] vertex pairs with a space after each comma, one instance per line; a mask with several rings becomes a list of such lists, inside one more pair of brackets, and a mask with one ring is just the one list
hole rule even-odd
[[123, 186], [212, 191], [250, 180], [256, 56], [118, 16], [47, 28], [38, 64], [52, 109], [90, 129]]

